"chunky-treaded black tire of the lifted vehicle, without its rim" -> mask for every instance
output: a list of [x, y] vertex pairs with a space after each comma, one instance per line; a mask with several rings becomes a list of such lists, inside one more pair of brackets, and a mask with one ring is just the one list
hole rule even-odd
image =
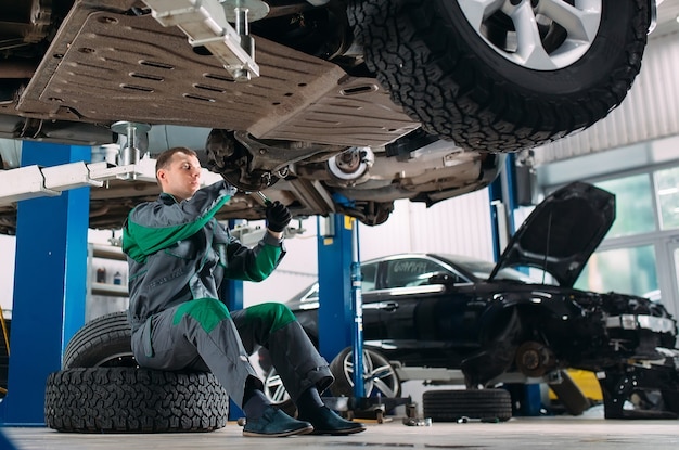
[[423, 128], [472, 151], [514, 152], [591, 126], [619, 105], [641, 69], [648, 0], [603, 0], [578, 61], [535, 70], [500, 55], [458, 1], [351, 0], [368, 68]]

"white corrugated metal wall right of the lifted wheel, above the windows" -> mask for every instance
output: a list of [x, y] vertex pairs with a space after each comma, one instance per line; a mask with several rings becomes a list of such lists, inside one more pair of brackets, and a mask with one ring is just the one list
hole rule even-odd
[[537, 166], [679, 133], [679, 34], [649, 41], [623, 104], [591, 128], [537, 147]]

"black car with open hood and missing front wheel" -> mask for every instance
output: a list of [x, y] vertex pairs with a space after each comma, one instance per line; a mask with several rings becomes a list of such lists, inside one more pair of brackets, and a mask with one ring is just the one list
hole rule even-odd
[[[396, 395], [387, 367], [460, 369], [469, 388], [553, 381], [573, 368], [598, 374], [606, 417], [632, 415], [625, 404], [644, 389], [676, 414], [677, 326], [665, 307], [573, 288], [614, 219], [613, 194], [576, 182], [535, 208], [497, 265], [434, 253], [361, 263], [367, 383]], [[318, 293], [313, 284], [287, 303], [316, 342]], [[350, 348], [331, 365], [346, 391]]]

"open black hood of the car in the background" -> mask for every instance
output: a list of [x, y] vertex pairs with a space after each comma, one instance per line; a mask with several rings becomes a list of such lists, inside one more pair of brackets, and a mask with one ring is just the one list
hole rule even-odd
[[546, 197], [511, 239], [500, 269], [529, 266], [572, 287], [585, 263], [615, 220], [615, 195], [584, 182], [571, 183]]

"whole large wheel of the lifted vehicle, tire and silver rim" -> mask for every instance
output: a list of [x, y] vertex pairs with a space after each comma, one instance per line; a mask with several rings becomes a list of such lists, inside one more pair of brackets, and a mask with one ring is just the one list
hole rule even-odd
[[641, 69], [648, 0], [354, 0], [349, 22], [395, 103], [467, 150], [588, 127]]

